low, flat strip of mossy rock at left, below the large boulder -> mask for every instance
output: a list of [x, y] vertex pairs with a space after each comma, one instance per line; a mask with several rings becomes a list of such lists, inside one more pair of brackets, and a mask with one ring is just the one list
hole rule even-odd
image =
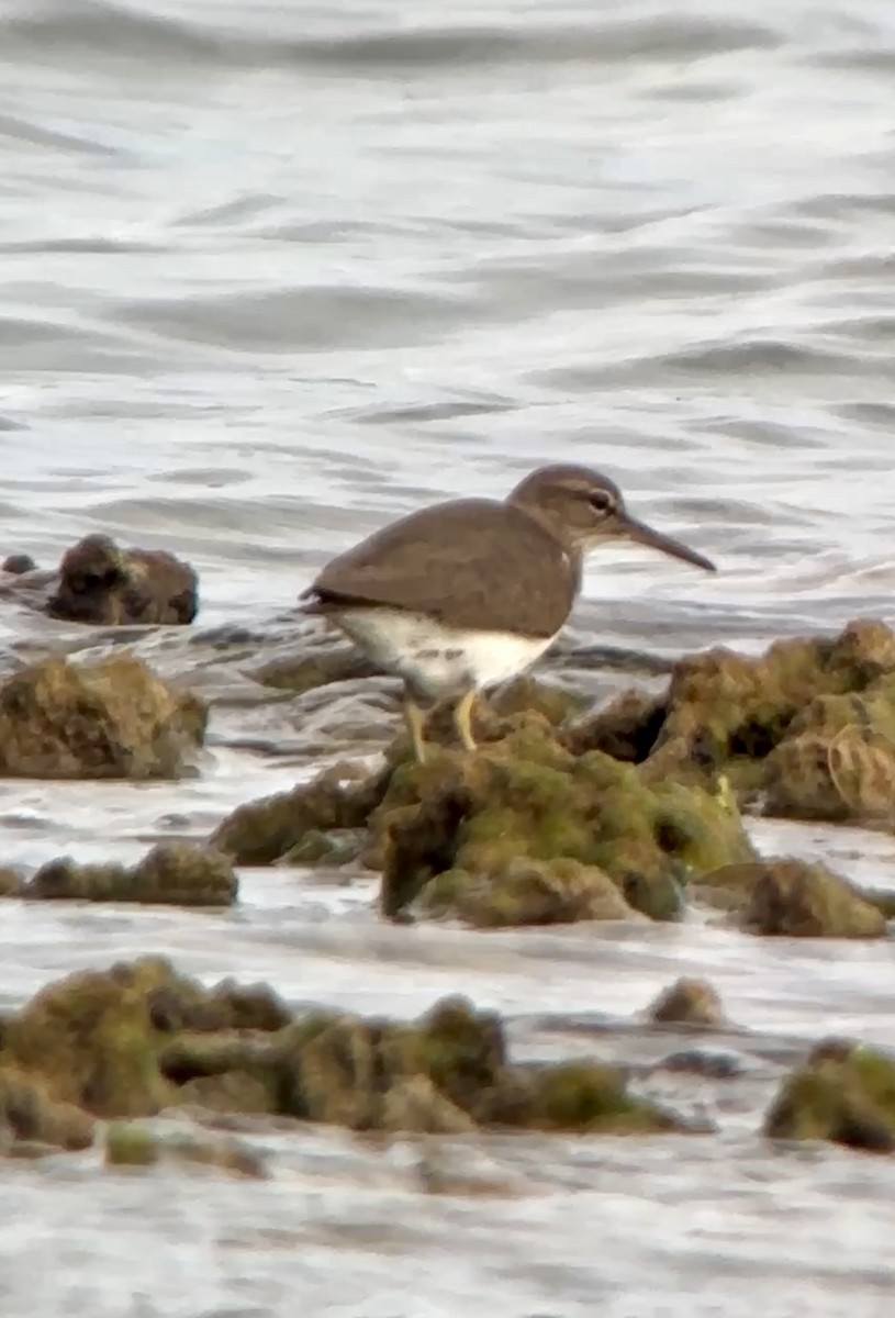
[[185, 842], [159, 842], [132, 869], [49, 861], [18, 894], [29, 900], [140, 902], [146, 905], [223, 907], [239, 896], [239, 879], [220, 853]]

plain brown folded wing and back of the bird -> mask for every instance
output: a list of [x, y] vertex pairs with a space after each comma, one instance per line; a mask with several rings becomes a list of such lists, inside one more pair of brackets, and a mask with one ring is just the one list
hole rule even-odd
[[332, 559], [304, 596], [427, 613], [459, 627], [554, 635], [577, 590], [577, 563], [519, 509], [456, 500], [413, 513]]

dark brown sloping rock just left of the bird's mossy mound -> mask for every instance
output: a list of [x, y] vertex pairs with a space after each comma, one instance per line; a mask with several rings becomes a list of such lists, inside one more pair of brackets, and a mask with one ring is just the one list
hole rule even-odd
[[348, 786], [324, 774], [289, 792], [240, 805], [217, 825], [208, 845], [235, 865], [273, 865], [310, 833], [362, 828], [386, 784], [388, 774]]

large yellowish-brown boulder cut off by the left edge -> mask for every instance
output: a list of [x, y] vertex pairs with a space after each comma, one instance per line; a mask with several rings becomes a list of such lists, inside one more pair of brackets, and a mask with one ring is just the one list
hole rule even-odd
[[42, 779], [179, 776], [207, 710], [130, 655], [45, 659], [0, 685], [0, 774]]

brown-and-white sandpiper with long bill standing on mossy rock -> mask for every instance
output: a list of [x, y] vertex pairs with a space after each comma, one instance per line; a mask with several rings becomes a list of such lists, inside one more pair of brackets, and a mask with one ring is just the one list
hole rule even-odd
[[393, 522], [332, 559], [301, 608], [403, 680], [419, 762], [428, 712], [448, 699], [460, 742], [473, 751], [477, 693], [540, 658], [572, 610], [584, 554], [620, 539], [714, 572], [701, 554], [631, 517], [608, 477], [552, 465], [502, 502], [451, 500]]

